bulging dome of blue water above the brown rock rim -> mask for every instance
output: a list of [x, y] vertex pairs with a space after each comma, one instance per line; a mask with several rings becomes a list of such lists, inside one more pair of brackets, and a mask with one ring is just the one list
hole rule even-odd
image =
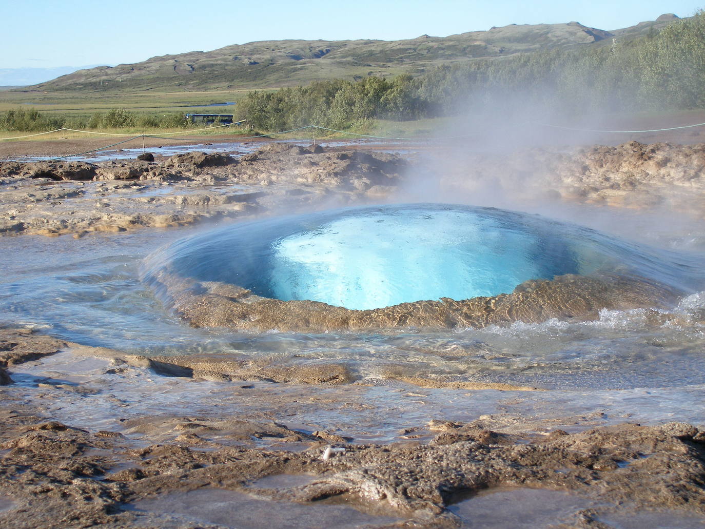
[[152, 255], [147, 279], [163, 281], [165, 272], [169, 281], [200, 284], [189, 287], [192, 293], [229, 284], [262, 298], [368, 310], [497, 296], [565, 274], [629, 274], [680, 287], [684, 269], [580, 226], [494, 208], [420, 204], [226, 226]]

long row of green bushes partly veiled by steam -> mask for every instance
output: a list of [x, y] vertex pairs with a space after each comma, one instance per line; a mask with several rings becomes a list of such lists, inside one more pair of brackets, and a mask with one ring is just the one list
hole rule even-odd
[[417, 78], [319, 81], [250, 92], [238, 117], [274, 132], [307, 125], [336, 129], [372, 118], [397, 121], [492, 114], [510, 108], [582, 116], [586, 111], [705, 106], [705, 13], [642, 38], [443, 65]]

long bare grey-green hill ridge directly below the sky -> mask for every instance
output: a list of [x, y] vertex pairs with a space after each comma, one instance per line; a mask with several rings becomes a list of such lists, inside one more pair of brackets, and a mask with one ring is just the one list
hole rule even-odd
[[[611, 32], [567, 24], [507, 25], [449, 37], [415, 39], [278, 40], [234, 44], [214, 51], [152, 57], [140, 63], [88, 68], [34, 87], [35, 90], [123, 92], [276, 88], [331, 78], [419, 74], [439, 64], [499, 59], [517, 53], [578, 47], [635, 38], [674, 20], [658, 20]], [[0, 83], [0, 85], [3, 83]], [[6, 83], [11, 84], [11, 83]]]

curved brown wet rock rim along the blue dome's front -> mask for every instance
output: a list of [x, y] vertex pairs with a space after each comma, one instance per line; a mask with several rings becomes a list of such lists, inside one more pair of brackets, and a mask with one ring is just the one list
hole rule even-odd
[[526, 281], [513, 293], [467, 300], [441, 298], [400, 303], [373, 310], [350, 310], [310, 300], [283, 301], [243, 294], [231, 298], [211, 284], [198, 291], [195, 281], [163, 272], [159, 282], [174, 308], [197, 327], [267, 331], [388, 328], [482, 328], [522, 321], [595, 320], [602, 309], [666, 308], [679, 293], [639, 278], [577, 276]]

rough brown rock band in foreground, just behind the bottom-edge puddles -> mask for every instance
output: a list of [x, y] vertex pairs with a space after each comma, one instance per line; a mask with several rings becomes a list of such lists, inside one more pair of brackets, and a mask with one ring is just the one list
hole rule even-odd
[[[0, 415], [0, 447], [6, 450], [0, 487], [11, 490], [17, 507], [0, 511], [0, 523], [11, 520], [13, 527], [174, 526], [158, 513], [140, 511], [135, 518], [121, 506], [204, 487], [302, 504], [355, 499], [367, 509], [397, 509], [404, 526], [422, 529], [457, 527], [448, 507], [462, 494], [501, 486], [547, 487], [642, 511], [705, 513], [705, 464], [701, 450], [687, 439], [701, 432], [685, 423], [618, 425], [529, 442], [526, 434], [437, 420], [442, 431], [430, 444], [364, 445], [348, 444], [326, 430], [306, 434], [274, 421], [134, 417], [121, 423], [125, 432], [165, 432], [164, 439], [171, 434], [171, 440], [126, 449], [122, 436], [92, 435], [56, 421], [27, 427], [16, 415]], [[209, 441], [216, 435], [226, 442]], [[303, 442], [309, 448], [242, 446], [271, 441]], [[262, 478], [278, 475], [306, 479], [286, 487], [257, 486]]]

